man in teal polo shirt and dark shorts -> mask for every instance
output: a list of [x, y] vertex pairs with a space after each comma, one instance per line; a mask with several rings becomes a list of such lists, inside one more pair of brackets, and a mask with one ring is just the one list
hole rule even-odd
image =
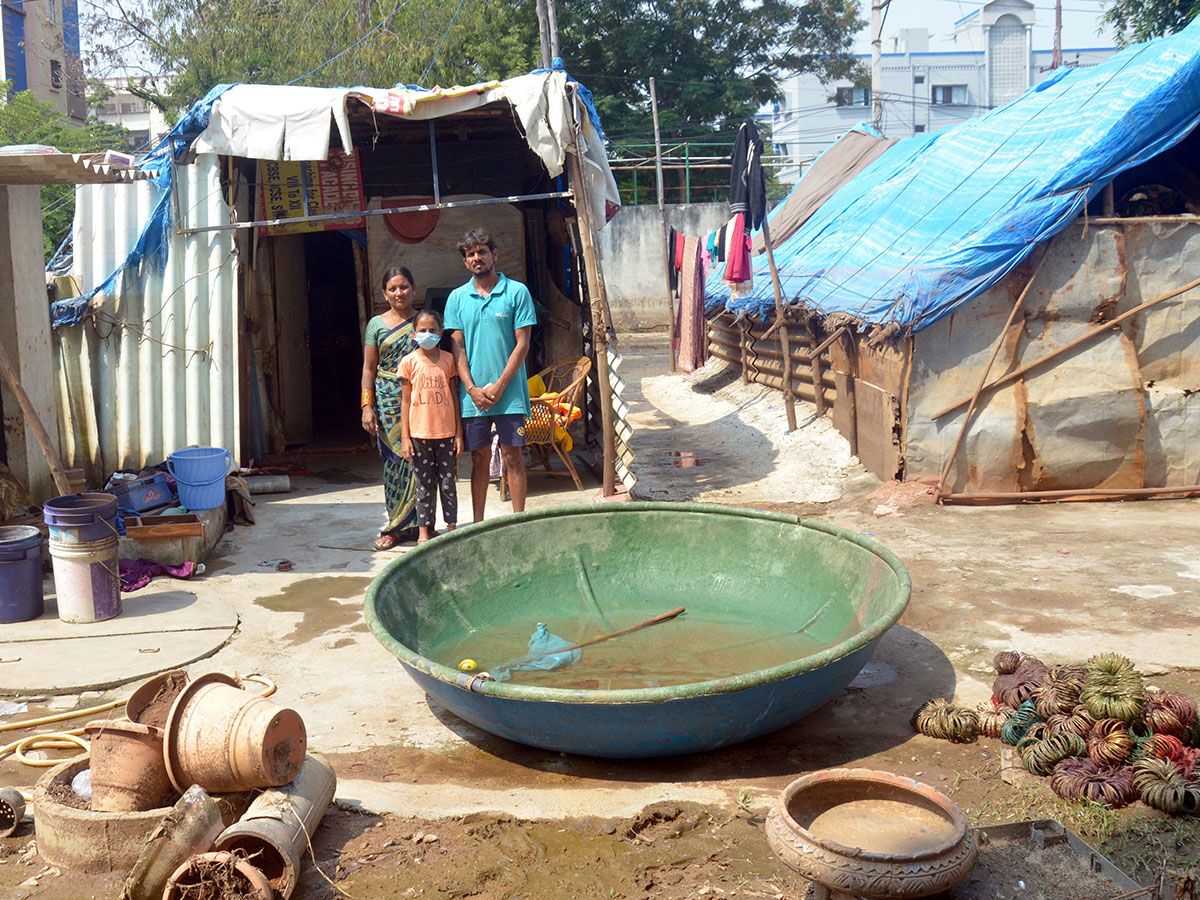
[[470, 451], [470, 503], [484, 521], [492, 433], [509, 475], [512, 511], [524, 511], [524, 421], [529, 383], [524, 358], [529, 331], [538, 322], [529, 288], [496, 271], [496, 241], [481, 229], [467, 232], [458, 252], [470, 281], [446, 300], [445, 330], [452, 334], [458, 364], [462, 426]]

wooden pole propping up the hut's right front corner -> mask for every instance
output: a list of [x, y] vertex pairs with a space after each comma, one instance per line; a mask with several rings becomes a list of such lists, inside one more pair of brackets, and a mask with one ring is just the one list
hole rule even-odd
[[596, 380], [600, 383], [600, 427], [604, 432], [604, 496], [612, 497], [617, 492], [617, 431], [612, 412], [612, 380], [608, 374], [608, 294], [600, 269], [600, 253], [595, 246], [595, 223], [592, 221], [592, 206], [588, 203], [587, 181], [583, 179], [583, 140], [580, 134], [578, 101], [571, 95], [571, 118], [574, 134], [571, 152], [566, 155], [570, 166], [571, 190], [575, 193], [575, 211], [580, 217], [580, 244], [583, 252], [584, 270], [588, 278], [588, 294], [592, 302], [592, 346], [596, 356]]

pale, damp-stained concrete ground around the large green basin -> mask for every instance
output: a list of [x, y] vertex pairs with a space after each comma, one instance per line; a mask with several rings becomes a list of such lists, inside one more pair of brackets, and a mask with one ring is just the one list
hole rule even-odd
[[[371, 452], [298, 460], [311, 476], [295, 478], [289, 494], [260, 497], [257, 524], [229, 533], [203, 577], [155, 581], [126, 595], [127, 620], [163, 607], [163, 598], [176, 610], [170, 614], [193, 620], [232, 611], [236, 630], [190, 671], [258, 672], [272, 679], [275, 700], [294, 706], [311, 746], [331, 756], [342, 800], [421, 818], [474, 810], [619, 816], [666, 798], [734, 805], [744, 792], [766, 802], [798, 774], [833, 764], [865, 762], [912, 774], [928, 768], [916, 749], [925, 745], [910, 743], [923, 740], [908, 725], [913, 709], [930, 696], [984, 700], [988, 664], [1004, 648], [1048, 662], [1115, 649], [1163, 678], [1190, 677], [1200, 666], [1195, 500], [938, 508], [919, 487], [881, 486], [850, 458], [836, 467], [836, 499], [794, 494], [776, 482], [764, 496], [761, 485], [781, 455], [790, 464], [811, 458], [814, 468], [828, 467], [829, 454], [840, 452], [836, 434], [811, 415], [802, 415], [805, 424], [797, 432], [780, 432], [769, 425], [764, 407], [773, 401], [766, 395], [722, 395], [725, 406], [714, 420], [713, 391], [706, 394], [710, 385], [688, 391], [665, 385], [662, 379], [672, 377], [661, 374], [660, 348], [630, 344], [624, 352], [637, 427], [634, 450], [656, 490], [820, 516], [871, 535], [908, 566], [913, 594], [904, 619], [851, 689], [806, 720], [710, 754], [598, 761], [512, 744], [440, 709], [362, 619], [367, 584], [397, 556], [371, 550], [382, 518], [379, 467]], [[690, 378], [697, 385], [722, 380], [714, 372]], [[774, 414], [782, 420], [778, 400]], [[704, 466], [661, 464], [671, 449], [703, 454], [722, 427], [714, 425], [720, 419], [758, 437], [727, 443], [720, 458]], [[746, 421], [758, 425], [746, 430]], [[530, 486], [530, 509], [590, 502], [596, 490], [594, 481], [577, 492], [568, 479], [539, 475]], [[468, 491], [461, 481], [464, 506]], [[503, 511], [493, 487], [488, 516]], [[280, 559], [293, 568], [278, 571]], [[144, 631], [127, 638], [136, 648], [149, 646]], [[155, 646], [173, 640], [164, 626]], [[71, 690], [52, 700], [46, 695], [59, 691], [34, 691], [29, 714], [116, 698], [132, 689], [80, 696], [77, 668], [94, 662], [59, 659], [59, 683]], [[11, 758], [0, 762], [4, 784], [29, 785], [37, 774]]]

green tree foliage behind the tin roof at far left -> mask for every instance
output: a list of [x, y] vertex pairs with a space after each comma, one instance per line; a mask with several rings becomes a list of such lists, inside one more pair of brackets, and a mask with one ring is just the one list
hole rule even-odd
[[[0, 83], [7, 90], [12, 83]], [[32, 91], [13, 94], [0, 103], [0, 145], [44, 144], [64, 152], [86, 154], [121, 146], [128, 136], [124, 128], [95, 119], [73, 126], [54, 103], [38, 100]], [[74, 187], [43, 185], [42, 248], [47, 258], [62, 242], [74, 218]]]

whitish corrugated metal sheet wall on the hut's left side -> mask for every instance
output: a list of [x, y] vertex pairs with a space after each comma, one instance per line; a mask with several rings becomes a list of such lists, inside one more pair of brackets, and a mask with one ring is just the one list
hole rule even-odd
[[[229, 223], [220, 158], [178, 169], [190, 227]], [[140, 234], [157, 199], [149, 182], [76, 192], [74, 268], [84, 292], [101, 283]], [[95, 316], [55, 329], [64, 455], [92, 480], [162, 462], [188, 445], [240, 450], [238, 278], [233, 232], [169, 233], [166, 266], [126, 275]]]

